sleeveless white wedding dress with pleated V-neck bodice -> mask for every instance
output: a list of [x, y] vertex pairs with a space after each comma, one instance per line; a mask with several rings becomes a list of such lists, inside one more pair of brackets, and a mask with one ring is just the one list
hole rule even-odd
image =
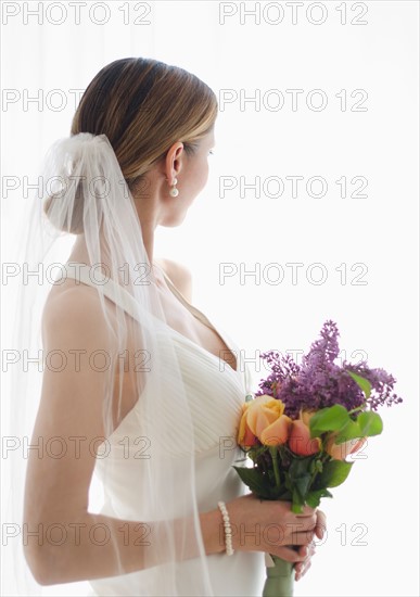
[[[72, 269], [67, 274], [72, 277]], [[94, 285], [84, 269], [77, 274], [80, 281]], [[190, 305], [182, 294], [166, 277], [168, 287], [176, 297], [204, 325], [211, 327], [222, 338], [226, 345], [237, 356], [237, 371], [205, 348], [173, 330], [179, 355], [182, 377], [188, 390], [194, 423], [195, 440], [195, 482], [198, 507], [200, 512], [217, 508], [218, 500], [230, 499], [249, 493], [232, 468], [234, 461], [243, 458], [236, 437], [245, 395], [252, 391], [250, 376], [240, 363], [238, 346], [216, 330], [209, 320], [195, 307]], [[105, 295], [117, 302], [124, 310], [133, 316], [132, 296], [113, 292], [113, 283], [104, 288]], [[120, 290], [120, 288], [119, 288]], [[158, 332], [157, 332], [158, 333]], [[144, 392], [148, 388], [145, 386]], [[139, 508], [140, 495], [137, 484], [141, 483], [138, 467], [141, 459], [127, 458], [127, 447], [132, 453], [139, 452], [141, 436], [142, 397], [123, 419], [120, 424], [107, 437], [109, 454], [98, 459], [96, 474], [106, 483], [107, 500], [101, 513], [123, 520], [144, 520], [145, 510]], [[221, 440], [220, 440], [221, 439]], [[224, 440], [225, 439], [225, 440]], [[179, 446], [171, 444], [174, 453], [182, 453], [181, 439]], [[123, 455], [124, 452], [124, 455]], [[115, 466], [117, 462], [117, 466]], [[176, 460], [175, 460], [176, 462]], [[179, 483], [182, 479], [179, 478]], [[176, 516], [176, 495], [168, 496], [168, 513]], [[191, 579], [199, 574], [198, 560], [184, 560], [177, 563], [177, 584], [179, 595], [191, 596]], [[259, 596], [265, 580], [264, 554], [258, 551], [236, 551], [233, 556], [216, 554], [207, 556], [209, 581], [215, 596]], [[160, 566], [165, 574], [165, 564]], [[155, 573], [155, 570], [154, 570]], [[150, 570], [90, 581], [89, 596], [136, 596], [154, 595], [153, 574]], [[198, 597], [198, 596], [194, 596]]]

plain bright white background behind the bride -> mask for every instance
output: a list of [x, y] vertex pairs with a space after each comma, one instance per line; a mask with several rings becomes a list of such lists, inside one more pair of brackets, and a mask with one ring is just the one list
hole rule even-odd
[[[69, 132], [76, 107], [69, 90], [84, 90], [102, 66], [129, 55], [163, 60], [205, 80], [220, 99], [211, 177], [184, 224], [158, 232], [156, 256], [190, 268], [193, 303], [255, 360], [255, 383], [266, 372], [258, 371], [258, 351], [306, 352], [331, 318], [341, 330], [343, 356], [357, 360], [362, 351], [370, 366], [397, 378], [404, 397], [403, 405], [381, 412], [383, 435], [370, 440], [345, 485], [323, 503], [328, 538], [295, 595], [419, 595], [418, 3], [305, 2], [293, 23], [287, 2], [247, 2], [241, 9], [239, 2], [158, 1], [149, 2], [143, 21], [150, 24], [135, 24], [142, 18], [137, 2], [86, 2], [80, 24], [66, 2], [55, 2], [55, 9], [42, 2], [38, 16], [25, 16], [37, 4], [2, 8], [9, 55], [2, 78], [3, 176], [18, 179], [14, 191], [11, 179], [3, 179], [3, 262], [14, 258], [21, 215], [34, 192], [25, 189], [24, 177], [34, 183], [44, 151]], [[93, 4], [102, 8], [89, 13]], [[110, 18], [101, 25], [103, 5]], [[256, 10], [259, 24], [243, 9]], [[234, 14], [220, 24], [224, 10]], [[273, 24], [281, 10], [282, 21]], [[296, 110], [287, 92], [292, 89], [303, 90]], [[314, 89], [327, 98], [323, 110], [315, 110], [319, 94], [310, 104]], [[268, 90], [275, 91], [267, 100]], [[343, 97], [342, 90], [345, 110], [335, 96]], [[355, 90], [364, 91], [352, 98]], [[241, 105], [241, 93], [259, 93], [259, 104]], [[352, 110], [360, 93], [366, 110]], [[222, 102], [227, 94], [238, 101]], [[39, 102], [26, 103], [27, 97]], [[283, 107], [273, 110], [281, 97]], [[291, 176], [304, 177], [294, 198], [285, 178]], [[322, 198], [306, 192], [314, 176], [327, 181]], [[343, 176], [345, 198], [335, 182]], [[225, 196], [221, 177], [237, 181]], [[241, 188], [241, 177], [246, 183], [260, 177], [260, 196]], [[268, 177], [283, 180], [281, 196], [266, 196]], [[354, 177], [367, 179], [368, 196], [351, 196]], [[296, 283], [285, 265], [291, 263], [304, 264]], [[320, 275], [310, 269], [315, 263], [322, 264], [323, 283], [315, 283]], [[222, 264], [238, 274], [221, 280]], [[267, 269], [268, 264], [275, 266]], [[341, 264], [345, 279], [335, 269]], [[358, 279], [364, 284], [356, 283], [361, 266], [352, 271], [355, 264], [364, 264]], [[256, 275], [241, 278], [244, 269]], [[283, 280], [273, 283], [281, 270]], [[5, 301], [12, 301], [7, 290]], [[5, 327], [7, 315], [5, 307]], [[74, 595], [77, 586], [66, 590]]]

